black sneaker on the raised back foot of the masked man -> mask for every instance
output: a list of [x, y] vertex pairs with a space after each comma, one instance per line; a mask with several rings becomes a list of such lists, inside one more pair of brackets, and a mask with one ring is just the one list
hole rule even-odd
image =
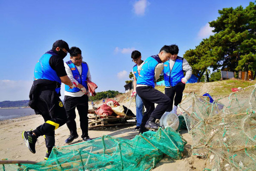
[[35, 154], [35, 143], [37, 142], [37, 137], [32, 134], [32, 131], [23, 131], [21, 135], [26, 146]]

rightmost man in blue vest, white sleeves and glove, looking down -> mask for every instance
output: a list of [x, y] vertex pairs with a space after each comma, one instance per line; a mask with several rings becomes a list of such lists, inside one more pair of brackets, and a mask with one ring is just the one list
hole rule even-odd
[[[166, 86], [165, 94], [171, 100], [171, 105], [167, 108], [167, 111], [176, 114], [178, 104], [182, 100], [185, 84], [192, 75], [192, 67], [190, 67], [187, 60], [178, 56], [179, 48], [177, 45], [172, 44], [170, 47], [172, 56], [169, 61], [164, 63], [164, 84]], [[174, 107], [172, 108], [173, 99]]]

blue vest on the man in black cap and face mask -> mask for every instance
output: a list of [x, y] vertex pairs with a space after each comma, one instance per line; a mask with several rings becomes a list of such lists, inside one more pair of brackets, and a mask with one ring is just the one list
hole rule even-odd
[[[56, 71], [52, 69], [49, 64], [49, 60], [52, 55], [57, 55], [53, 50], [49, 50], [41, 56], [40, 60], [35, 65], [34, 70], [34, 80], [37, 79], [48, 79], [51, 81], [57, 81], [61, 84], [60, 77], [57, 75]], [[56, 88], [57, 93], [60, 92], [60, 88]]]

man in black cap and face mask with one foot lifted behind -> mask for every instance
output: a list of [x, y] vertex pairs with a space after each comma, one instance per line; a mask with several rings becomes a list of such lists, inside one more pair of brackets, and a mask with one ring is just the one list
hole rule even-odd
[[54, 134], [58, 127], [67, 121], [66, 111], [61, 102], [61, 82], [74, 88], [75, 84], [68, 78], [63, 58], [71, 53], [68, 44], [63, 40], [57, 40], [52, 50], [44, 53], [35, 65], [34, 82], [29, 93], [29, 106], [44, 118], [44, 124], [33, 131], [23, 131], [22, 138], [32, 153], [35, 153], [35, 143], [39, 136], [44, 136], [47, 147], [46, 156], [48, 160], [52, 148], [55, 145]]

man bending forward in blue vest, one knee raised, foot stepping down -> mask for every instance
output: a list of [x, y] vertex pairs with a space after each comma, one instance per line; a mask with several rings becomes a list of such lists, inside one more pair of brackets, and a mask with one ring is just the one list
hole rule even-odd
[[[155, 120], [160, 119], [170, 105], [170, 98], [155, 89], [155, 81], [162, 73], [162, 63], [169, 60], [172, 55], [170, 52], [170, 46], [163, 46], [158, 55], [148, 57], [138, 67], [139, 75], [136, 92], [146, 107], [146, 112], [141, 121], [140, 133], [150, 128], [158, 129], [159, 125], [155, 123]], [[155, 103], [158, 104], [156, 107]]]

